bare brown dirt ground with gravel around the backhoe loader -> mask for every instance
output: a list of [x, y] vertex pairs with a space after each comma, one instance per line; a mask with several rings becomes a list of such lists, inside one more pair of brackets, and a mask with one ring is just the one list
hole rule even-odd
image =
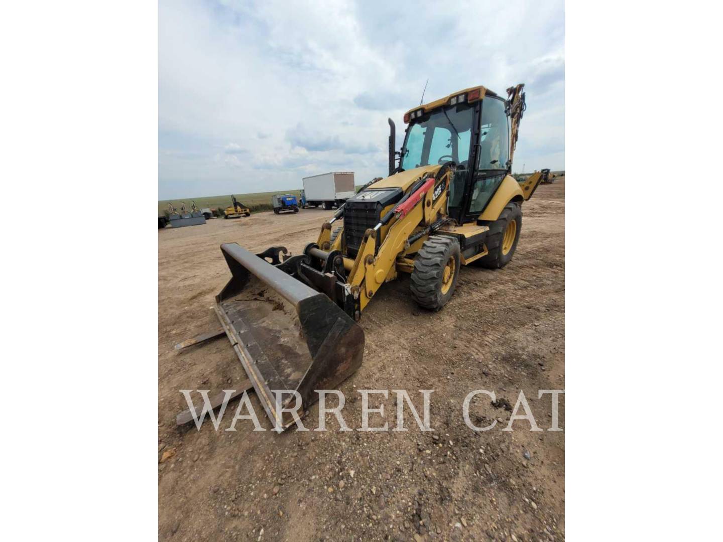
[[[176, 427], [187, 408], [179, 390], [234, 389], [246, 378], [226, 337], [179, 353], [174, 345], [217, 327], [213, 298], [230, 273], [219, 245], [252, 251], [284, 245], [294, 254], [314, 241], [332, 211], [272, 212], [158, 232], [158, 534], [181, 541], [310, 540], [563, 540], [565, 433], [552, 426], [552, 399], [538, 390], [565, 388], [565, 183], [539, 186], [523, 205], [515, 257], [502, 270], [463, 267], [442, 311], [419, 309], [409, 278], [384, 285], [361, 317], [364, 363], [341, 385], [343, 416], [361, 426], [356, 390], [408, 390], [419, 412], [419, 390], [431, 395], [432, 432], [405, 411], [408, 431], [270, 431], [255, 395], [253, 423], [231, 425], [229, 403], [215, 431], [208, 419]], [[480, 395], [466, 426], [462, 404]], [[520, 390], [543, 431], [515, 421], [502, 431]], [[194, 398], [198, 395], [194, 392]], [[371, 425], [395, 426], [394, 395]], [[333, 397], [330, 405], [335, 405]], [[565, 427], [565, 396], [559, 425]], [[245, 413], [245, 410], [244, 410]], [[520, 410], [519, 413], [523, 413]], [[318, 408], [305, 425], [318, 426]], [[169, 457], [170, 456], [170, 457]]]

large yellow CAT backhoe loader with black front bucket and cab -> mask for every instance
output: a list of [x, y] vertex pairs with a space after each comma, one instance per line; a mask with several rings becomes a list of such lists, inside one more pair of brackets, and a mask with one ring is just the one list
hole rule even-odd
[[384, 283], [409, 273], [415, 301], [439, 310], [462, 265], [510, 262], [521, 205], [542, 178], [510, 175], [523, 87], [510, 87], [506, 99], [471, 87], [410, 109], [401, 152], [389, 119], [389, 175], [348, 199], [302, 254], [221, 245], [231, 280], [215, 309], [278, 430], [304, 415], [314, 390], [333, 389], [359, 368], [356, 321]]

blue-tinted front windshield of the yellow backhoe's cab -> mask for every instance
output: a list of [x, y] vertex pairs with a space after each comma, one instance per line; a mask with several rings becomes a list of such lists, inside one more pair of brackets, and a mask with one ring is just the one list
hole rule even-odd
[[435, 109], [406, 132], [400, 166], [403, 169], [443, 164], [467, 165], [474, 108], [461, 104]]

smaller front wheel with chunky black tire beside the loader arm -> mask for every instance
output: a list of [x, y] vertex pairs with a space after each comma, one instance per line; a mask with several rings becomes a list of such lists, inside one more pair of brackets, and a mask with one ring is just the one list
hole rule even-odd
[[440, 310], [452, 297], [460, 268], [459, 243], [455, 238], [432, 236], [414, 258], [411, 295], [420, 306]]

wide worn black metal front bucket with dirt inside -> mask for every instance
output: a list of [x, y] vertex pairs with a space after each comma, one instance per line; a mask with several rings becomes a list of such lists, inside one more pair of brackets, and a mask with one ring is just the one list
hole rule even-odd
[[[279, 247], [283, 248], [283, 247]], [[231, 280], [216, 296], [218, 319], [254, 385], [268, 417], [281, 431], [330, 390], [359, 369], [364, 331], [324, 293], [288, 275], [274, 263], [222, 244]], [[286, 252], [286, 249], [283, 249]], [[266, 253], [265, 253], [266, 254]], [[284, 392], [278, 403], [274, 390]]]

